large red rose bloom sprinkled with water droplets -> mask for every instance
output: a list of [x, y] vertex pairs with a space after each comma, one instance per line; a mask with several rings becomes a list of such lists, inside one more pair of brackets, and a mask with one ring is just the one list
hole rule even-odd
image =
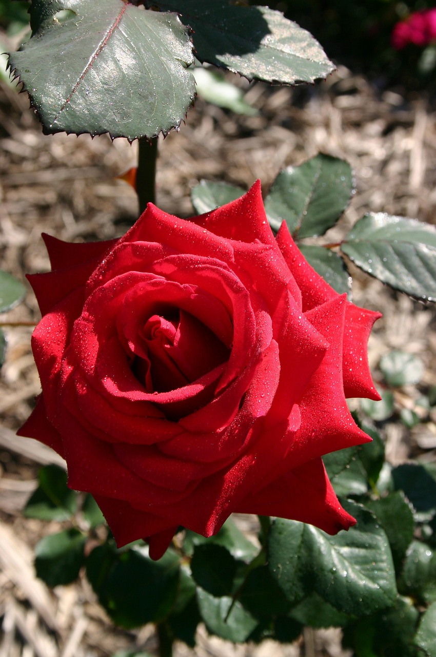
[[274, 238], [260, 183], [190, 220], [149, 204], [119, 240], [45, 243], [42, 394], [20, 435], [66, 459], [119, 546], [159, 558], [180, 525], [210, 536], [234, 511], [355, 523], [321, 457], [370, 440], [345, 397], [380, 398], [380, 314], [326, 284], [285, 224]]

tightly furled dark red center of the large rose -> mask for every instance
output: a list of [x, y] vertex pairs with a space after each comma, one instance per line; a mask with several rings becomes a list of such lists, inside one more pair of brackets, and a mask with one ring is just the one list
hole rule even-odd
[[148, 352], [133, 369], [153, 392], [183, 388], [229, 359], [229, 349], [196, 317], [183, 310], [152, 315], [142, 329]]

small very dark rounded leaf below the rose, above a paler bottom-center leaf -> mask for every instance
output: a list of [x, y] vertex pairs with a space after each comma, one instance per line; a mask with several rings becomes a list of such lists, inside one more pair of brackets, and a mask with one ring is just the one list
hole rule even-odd
[[231, 595], [237, 562], [223, 545], [197, 545], [191, 559], [192, 577], [208, 593]]

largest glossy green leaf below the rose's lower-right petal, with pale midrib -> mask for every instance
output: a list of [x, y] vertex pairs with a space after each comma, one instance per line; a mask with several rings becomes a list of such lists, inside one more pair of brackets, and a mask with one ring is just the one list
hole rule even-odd
[[269, 568], [290, 602], [315, 591], [338, 611], [364, 616], [395, 601], [392, 556], [376, 518], [349, 500], [343, 506], [357, 525], [336, 536], [294, 520], [275, 520]]

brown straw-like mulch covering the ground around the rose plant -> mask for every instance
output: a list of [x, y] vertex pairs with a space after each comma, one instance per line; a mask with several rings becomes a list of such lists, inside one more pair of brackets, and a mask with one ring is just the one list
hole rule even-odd
[[[198, 101], [179, 133], [159, 140], [157, 204], [163, 210], [192, 214], [189, 190], [202, 178], [242, 187], [260, 178], [268, 191], [280, 168], [322, 151], [349, 160], [357, 181], [341, 229], [328, 234], [328, 241], [370, 210], [436, 223], [435, 112], [424, 98], [406, 103], [393, 91], [378, 95], [344, 68], [304, 91], [255, 84], [248, 98], [261, 110], [259, 116], [238, 117]], [[137, 200], [133, 190], [114, 177], [135, 165], [136, 152], [135, 144], [121, 139], [112, 144], [107, 136], [45, 137], [26, 97], [1, 87], [1, 268], [21, 280], [26, 272], [47, 271], [42, 231], [64, 240], [124, 233], [137, 217]], [[417, 353], [427, 367], [424, 384], [435, 385], [434, 308], [393, 294], [361, 275], [353, 290], [357, 304], [384, 313], [370, 342], [372, 365], [376, 367], [380, 355], [394, 347]], [[29, 289], [26, 302], [1, 320], [32, 323], [38, 317]], [[84, 578], [49, 591], [33, 575], [32, 548], [58, 525], [24, 520], [21, 514], [36, 486], [37, 467], [55, 458], [37, 443], [18, 443], [14, 438], [39, 392], [31, 332], [30, 327], [7, 328], [9, 348], [0, 380], [0, 657], [104, 657], [117, 649], [139, 647], [153, 652], [153, 627], [135, 632], [114, 629]], [[398, 400], [410, 407], [418, 394], [412, 388]], [[387, 424], [386, 437], [393, 463], [418, 454], [435, 459], [433, 422], [411, 433]], [[177, 646], [177, 655], [188, 654], [192, 652]], [[233, 647], [200, 629], [195, 654], [345, 656], [336, 630], [309, 630], [292, 646], [265, 642]]]

